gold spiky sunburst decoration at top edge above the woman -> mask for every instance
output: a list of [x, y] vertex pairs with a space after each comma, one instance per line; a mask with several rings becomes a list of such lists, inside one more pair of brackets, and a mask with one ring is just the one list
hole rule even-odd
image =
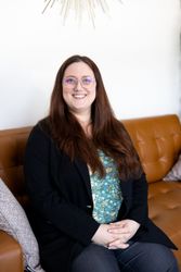
[[52, 8], [57, 1], [60, 2], [60, 13], [63, 16], [64, 22], [70, 11], [74, 11], [79, 21], [81, 21], [81, 17], [86, 12], [94, 25], [95, 9], [101, 8], [104, 13], [108, 11], [107, 0], [44, 0], [46, 4], [42, 13], [44, 13], [48, 8]]

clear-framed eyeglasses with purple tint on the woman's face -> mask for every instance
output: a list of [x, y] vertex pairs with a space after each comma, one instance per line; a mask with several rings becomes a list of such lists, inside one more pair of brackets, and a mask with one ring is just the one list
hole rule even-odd
[[63, 78], [63, 85], [68, 87], [68, 88], [75, 88], [77, 86], [78, 82], [80, 82], [82, 87], [88, 88], [94, 84], [95, 79], [92, 78], [91, 76], [82, 76], [80, 78], [80, 81], [78, 81], [78, 78], [76, 78], [74, 76], [67, 76], [67, 77]]

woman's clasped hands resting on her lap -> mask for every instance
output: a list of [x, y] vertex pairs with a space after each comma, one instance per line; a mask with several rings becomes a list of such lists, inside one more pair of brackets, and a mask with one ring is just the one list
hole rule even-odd
[[133, 237], [139, 227], [138, 222], [129, 219], [101, 224], [93, 235], [92, 242], [108, 249], [125, 249], [129, 247], [128, 240]]

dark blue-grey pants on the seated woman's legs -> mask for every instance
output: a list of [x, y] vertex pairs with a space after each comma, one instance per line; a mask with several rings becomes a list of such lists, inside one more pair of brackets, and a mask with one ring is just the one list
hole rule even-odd
[[127, 249], [91, 244], [73, 262], [72, 272], [179, 272], [172, 251], [159, 244], [133, 243]]

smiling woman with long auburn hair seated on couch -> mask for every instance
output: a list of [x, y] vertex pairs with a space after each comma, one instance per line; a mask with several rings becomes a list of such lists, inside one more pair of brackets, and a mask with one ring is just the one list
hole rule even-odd
[[47, 272], [177, 272], [171, 240], [147, 218], [147, 183], [100, 71], [73, 55], [50, 114], [31, 131], [25, 176]]

